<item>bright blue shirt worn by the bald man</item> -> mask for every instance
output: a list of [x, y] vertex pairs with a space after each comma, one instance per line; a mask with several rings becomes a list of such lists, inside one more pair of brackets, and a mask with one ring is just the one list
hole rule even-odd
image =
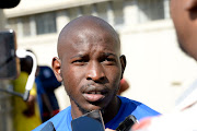
[[[105, 124], [105, 128], [116, 129], [118, 124], [125, 120], [129, 115], [134, 115], [138, 120], [144, 117], [158, 116], [160, 112], [151, 109], [142, 103], [128, 99], [126, 97], [118, 96], [121, 100], [121, 106], [118, 114]], [[56, 131], [72, 131], [71, 129], [71, 106], [67, 107], [65, 110], [60, 111], [58, 115], [49, 119], [54, 123]], [[33, 131], [40, 131], [47, 121], [40, 124]]]

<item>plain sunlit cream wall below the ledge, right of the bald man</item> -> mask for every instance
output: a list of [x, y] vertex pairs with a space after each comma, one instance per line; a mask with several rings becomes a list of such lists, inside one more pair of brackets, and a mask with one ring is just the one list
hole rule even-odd
[[125, 78], [131, 85], [124, 95], [161, 112], [172, 110], [196, 78], [197, 64], [177, 46], [171, 20], [128, 28], [121, 43], [127, 57]]

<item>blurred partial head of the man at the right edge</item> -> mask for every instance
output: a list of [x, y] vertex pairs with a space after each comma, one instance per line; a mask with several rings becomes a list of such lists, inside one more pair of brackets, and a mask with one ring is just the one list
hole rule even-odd
[[181, 48], [197, 60], [197, 0], [171, 0], [171, 15]]

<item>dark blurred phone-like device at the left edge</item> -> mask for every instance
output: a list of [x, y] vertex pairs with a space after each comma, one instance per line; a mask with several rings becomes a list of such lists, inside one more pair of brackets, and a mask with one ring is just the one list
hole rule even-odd
[[16, 79], [20, 66], [15, 57], [15, 33], [12, 29], [0, 32], [0, 79]]

